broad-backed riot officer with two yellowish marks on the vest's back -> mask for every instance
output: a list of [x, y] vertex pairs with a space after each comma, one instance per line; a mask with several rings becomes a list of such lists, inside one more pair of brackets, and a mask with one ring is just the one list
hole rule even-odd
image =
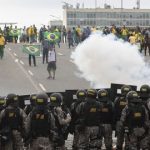
[[55, 119], [47, 107], [48, 95], [39, 93], [36, 96], [36, 106], [27, 117], [26, 130], [31, 139], [31, 149], [53, 149], [53, 135], [55, 133]]

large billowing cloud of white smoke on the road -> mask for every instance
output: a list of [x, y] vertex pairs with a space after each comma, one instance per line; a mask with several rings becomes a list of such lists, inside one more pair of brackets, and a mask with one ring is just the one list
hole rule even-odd
[[92, 34], [79, 44], [71, 58], [81, 77], [95, 88], [110, 87], [111, 83], [149, 84], [150, 69], [137, 46], [113, 35]]

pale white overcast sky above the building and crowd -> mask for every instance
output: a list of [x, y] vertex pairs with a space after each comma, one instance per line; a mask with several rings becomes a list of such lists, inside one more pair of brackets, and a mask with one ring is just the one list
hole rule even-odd
[[[62, 18], [63, 1], [70, 4], [80, 2], [85, 7], [94, 7], [95, 0], [0, 0], [0, 22], [18, 22], [18, 26], [48, 24], [49, 20]], [[104, 3], [119, 8], [121, 0], [97, 0], [101, 8]], [[136, 0], [123, 0], [124, 8], [136, 6]], [[150, 9], [150, 0], [141, 0], [141, 8]], [[56, 16], [55, 17], [52, 17]]]

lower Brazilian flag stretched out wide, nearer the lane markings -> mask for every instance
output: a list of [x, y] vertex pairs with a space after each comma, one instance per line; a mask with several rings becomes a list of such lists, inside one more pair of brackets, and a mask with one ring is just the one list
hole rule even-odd
[[23, 45], [22, 51], [26, 54], [31, 54], [34, 56], [40, 56], [41, 45], [38, 44], [26, 44]]

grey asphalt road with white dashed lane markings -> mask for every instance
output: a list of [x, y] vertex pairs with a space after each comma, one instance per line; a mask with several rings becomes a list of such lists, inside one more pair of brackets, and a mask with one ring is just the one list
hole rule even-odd
[[77, 76], [77, 67], [70, 55], [74, 49], [66, 44], [56, 46], [56, 79], [49, 80], [47, 64], [42, 64], [42, 57], [36, 57], [37, 66], [29, 66], [28, 55], [22, 52], [22, 44], [8, 43], [3, 60], [0, 60], [0, 95], [8, 93], [26, 95], [46, 92], [63, 92], [69, 89], [89, 88], [90, 83]]

